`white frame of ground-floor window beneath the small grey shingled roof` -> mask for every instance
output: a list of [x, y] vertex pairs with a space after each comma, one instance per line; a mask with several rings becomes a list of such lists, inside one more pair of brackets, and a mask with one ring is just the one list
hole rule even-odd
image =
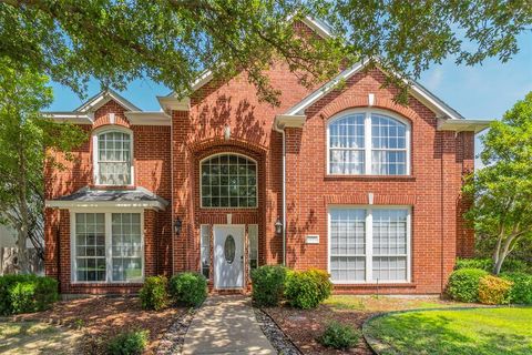
[[[76, 245], [75, 245], [75, 214], [103, 213], [105, 221], [105, 281], [78, 281], [76, 280]], [[112, 246], [112, 214], [139, 213], [141, 215], [141, 258], [142, 277], [135, 281], [113, 281], [113, 246]], [[140, 284], [144, 283], [145, 274], [145, 245], [144, 245], [144, 210], [143, 209], [72, 209], [70, 210], [70, 281], [73, 284]]]

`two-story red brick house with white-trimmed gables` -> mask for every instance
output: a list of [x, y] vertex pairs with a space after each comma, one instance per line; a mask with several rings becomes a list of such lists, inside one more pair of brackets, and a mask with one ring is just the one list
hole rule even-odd
[[190, 98], [157, 98], [161, 112], [111, 90], [50, 112], [91, 138], [47, 171], [47, 274], [62, 293], [135, 292], [182, 271], [243, 290], [252, 268], [286, 263], [328, 270], [339, 293], [441, 293], [473, 252], [460, 189], [488, 122], [418, 84], [397, 104], [385, 74], [362, 69], [309, 91], [277, 63], [279, 106], [245, 74], [207, 72]]

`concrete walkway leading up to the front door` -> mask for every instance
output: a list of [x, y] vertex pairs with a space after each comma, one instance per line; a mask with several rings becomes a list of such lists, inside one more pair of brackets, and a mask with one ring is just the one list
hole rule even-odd
[[211, 296], [188, 327], [183, 354], [277, 354], [245, 296]]

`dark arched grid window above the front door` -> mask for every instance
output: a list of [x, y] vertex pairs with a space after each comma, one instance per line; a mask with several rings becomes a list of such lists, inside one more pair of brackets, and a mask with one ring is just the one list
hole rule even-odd
[[257, 163], [237, 154], [219, 154], [201, 163], [203, 207], [256, 207]]

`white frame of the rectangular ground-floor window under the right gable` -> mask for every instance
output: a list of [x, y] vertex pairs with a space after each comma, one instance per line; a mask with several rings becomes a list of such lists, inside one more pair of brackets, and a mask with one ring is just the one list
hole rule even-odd
[[[374, 262], [374, 210], [406, 210], [407, 211], [407, 280], [379, 280], [379, 284], [408, 284], [411, 282], [411, 263], [412, 263], [412, 207], [408, 205], [330, 205], [327, 210], [327, 272], [330, 274], [330, 246], [331, 246], [331, 230], [330, 230], [330, 211], [331, 210], [365, 210], [366, 211], [366, 280], [352, 280], [352, 281], [334, 281], [334, 284], [377, 284], [376, 280], [372, 280], [372, 262]], [[392, 256], [392, 255], [391, 255]]]

